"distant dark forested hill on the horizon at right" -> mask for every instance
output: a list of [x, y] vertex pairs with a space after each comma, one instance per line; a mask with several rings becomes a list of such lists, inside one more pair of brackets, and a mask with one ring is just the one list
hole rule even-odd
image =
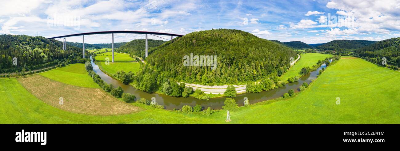
[[371, 45], [376, 43], [376, 41], [368, 41], [368, 40], [334, 40], [324, 45], [320, 45], [316, 47], [316, 49], [320, 50], [348, 50], [348, 49], [357, 49], [367, 45]]

